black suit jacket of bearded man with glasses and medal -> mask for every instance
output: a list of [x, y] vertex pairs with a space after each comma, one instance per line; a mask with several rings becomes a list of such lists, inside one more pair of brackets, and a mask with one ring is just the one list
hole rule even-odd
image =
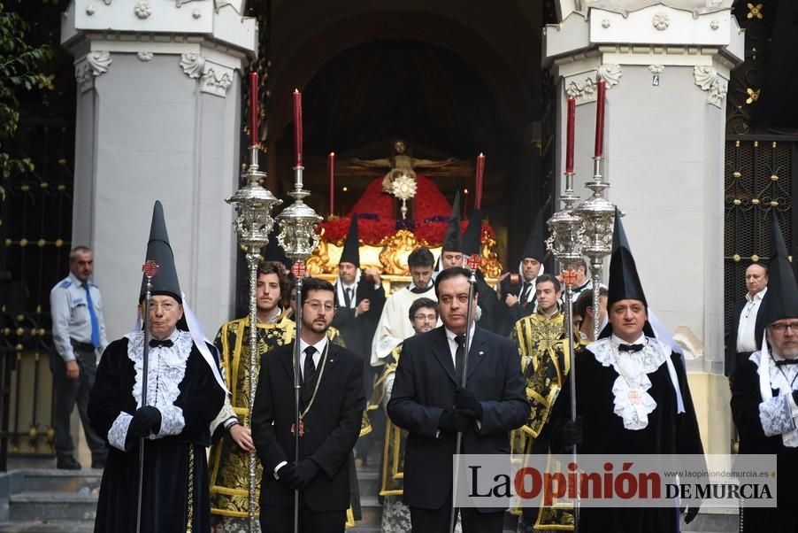
[[[303, 491], [313, 511], [345, 510], [349, 506], [349, 453], [360, 434], [365, 408], [363, 359], [327, 343], [326, 367], [311, 410], [305, 415], [299, 460], [310, 458], [320, 468]], [[294, 343], [265, 353], [260, 362], [252, 437], [264, 467], [261, 506], [291, 507], [294, 491], [274, 477], [282, 461], [294, 462]], [[321, 371], [321, 360], [318, 372]]]

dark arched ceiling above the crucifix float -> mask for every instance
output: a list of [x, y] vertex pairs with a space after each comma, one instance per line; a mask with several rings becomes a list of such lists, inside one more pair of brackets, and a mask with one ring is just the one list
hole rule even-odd
[[[428, 43], [470, 65], [495, 102], [486, 104], [495, 105], [497, 120], [507, 130], [520, 132], [540, 113], [542, 8], [530, 8], [527, 4], [530, 3], [508, 0], [488, 8], [487, 4], [456, 0], [275, 3], [269, 53], [272, 134], [279, 135], [280, 129], [291, 120], [293, 88], [310, 87], [313, 77], [329, 62], [348, 53], [347, 50], [357, 50], [358, 45], [400, 40]], [[437, 55], [438, 60], [443, 57], [441, 53]], [[427, 59], [427, 66], [435, 60]], [[417, 53], [395, 68], [405, 70], [408, 77], [418, 75], [413, 69], [418, 67], [419, 60], [425, 61]], [[367, 73], [361, 74], [369, 77]], [[360, 81], [362, 78], [357, 73], [349, 77], [351, 86]], [[427, 92], [435, 87], [445, 89], [441, 86], [446, 82], [443, 77], [437, 86], [428, 75], [424, 81], [430, 83]]]

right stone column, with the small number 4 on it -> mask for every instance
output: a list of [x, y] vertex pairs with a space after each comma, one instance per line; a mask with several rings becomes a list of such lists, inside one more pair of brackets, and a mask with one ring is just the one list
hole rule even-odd
[[[544, 62], [565, 98], [577, 98], [577, 192], [593, 174], [595, 83], [607, 83], [604, 174], [646, 297], [687, 346], [687, 368], [708, 451], [728, 452], [723, 378], [725, 94], [743, 60], [729, 0], [564, 0], [545, 28]], [[636, 11], [625, 9], [633, 5]], [[564, 153], [561, 147], [559, 153]], [[558, 172], [562, 173], [564, 156]], [[562, 186], [560, 186], [562, 189]]]

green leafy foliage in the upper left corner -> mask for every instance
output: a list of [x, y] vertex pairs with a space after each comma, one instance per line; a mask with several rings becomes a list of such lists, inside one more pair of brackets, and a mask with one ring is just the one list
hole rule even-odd
[[[27, 23], [17, 13], [5, 12], [0, 2], [0, 177], [33, 170], [30, 159], [12, 158], [5, 148], [19, 126], [19, 91], [52, 89], [52, 76], [38, 72], [53, 57], [47, 45], [25, 42]], [[0, 187], [0, 195], [4, 190]], [[0, 198], [2, 199], [2, 198]]]

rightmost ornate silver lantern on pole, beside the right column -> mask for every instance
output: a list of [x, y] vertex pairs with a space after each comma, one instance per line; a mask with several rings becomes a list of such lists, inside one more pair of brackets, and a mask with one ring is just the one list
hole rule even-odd
[[593, 279], [593, 338], [597, 339], [601, 328], [601, 284], [604, 258], [612, 251], [612, 225], [615, 221], [615, 205], [604, 197], [604, 189], [610, 183], [602, 177], [602, 157], [594, 158], [593, 181], [586, 187], [593, 195], [579, 204], [574, 212], [579, 214], [584, 225], [582, 233], [582, 254], [590, 259], [590, 272]]

